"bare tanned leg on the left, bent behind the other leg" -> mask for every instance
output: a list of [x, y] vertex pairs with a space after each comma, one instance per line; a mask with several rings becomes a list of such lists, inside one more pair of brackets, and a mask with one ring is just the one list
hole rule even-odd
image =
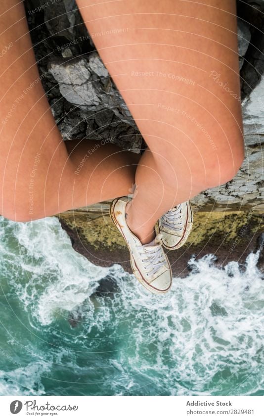
[[138, 155], [100, 141], [62, 140], [42, 84], [35, 82], [39, 73], [23, 1], [1, 1], [3, 50], [0, 214], [27, 221], [128, 194]]

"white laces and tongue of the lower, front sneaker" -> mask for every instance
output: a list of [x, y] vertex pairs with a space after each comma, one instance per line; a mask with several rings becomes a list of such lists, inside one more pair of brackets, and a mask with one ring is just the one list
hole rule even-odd
[[147, 272], [147, 276], [156, 274], [159, 268], [166, 262], [162, 251], [161, 237], [162, 235], [159, 234], [152, 242], [136, 247], [142, 263], [145, 264], [144, 269]]

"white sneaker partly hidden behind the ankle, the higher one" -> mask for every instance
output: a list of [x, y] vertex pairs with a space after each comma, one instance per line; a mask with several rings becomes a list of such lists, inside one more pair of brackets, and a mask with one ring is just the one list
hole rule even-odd
[[178, 204], [167, 211], [156, 223], [156, 234], [162, 233], [162, 243], [167, 249], [180, 248], [192, 230], [193, 214], [190, 201]]

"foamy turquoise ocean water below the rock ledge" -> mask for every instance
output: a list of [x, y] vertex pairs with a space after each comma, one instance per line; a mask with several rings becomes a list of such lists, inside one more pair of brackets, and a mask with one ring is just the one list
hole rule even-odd
[[[160, 297], [76, 253], [55, 217], [0, 218], [0, 395], [264, 395], [257, 259], [206, 256]], [[104, 278], [118, 289], [97, 296]]]

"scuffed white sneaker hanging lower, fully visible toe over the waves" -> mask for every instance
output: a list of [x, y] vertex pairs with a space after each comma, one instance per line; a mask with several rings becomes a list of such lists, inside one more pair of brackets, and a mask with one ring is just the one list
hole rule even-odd
[[127, 242], [133, 274], [152, 293], [166, 293], [172, 285], [172, 271], [162, 248], [161, 234], [142, 245], [131, 232], [126, 221], [126, 205], [129, 197], [116, 198], [110, 207], [110, 215]]

